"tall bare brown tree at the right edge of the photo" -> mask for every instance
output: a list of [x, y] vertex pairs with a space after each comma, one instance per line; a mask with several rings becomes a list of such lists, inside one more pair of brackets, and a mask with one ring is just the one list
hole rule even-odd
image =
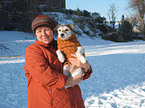
[[144, 0], [130, 0], [129, 7], [136, 10], [141, 21], [141, 30], [143, 40], [145, 41], [145, 1]]

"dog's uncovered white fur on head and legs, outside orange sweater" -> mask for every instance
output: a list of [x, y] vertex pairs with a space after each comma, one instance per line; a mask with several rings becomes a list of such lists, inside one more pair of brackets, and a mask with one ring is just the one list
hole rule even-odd
[[[57, 30], [58, 32], [58, 37], [61, 40], [67, 40], [69, 37], [72, 36], [72, 29], [75, 29], [75, 27], [72, 24], [63, 24], [63, 25], [58, 25], [55, 30]], [[58, 59], [60, 60], [60, 62], [64, 62], [65, 61], [65, 57], [63, 56], [62, 52], [60, 51], [60, 49], [58, 49], [56, 51]], [[78, 57], [78, 59], [82, 62], [82, 63], [86, 63], [86, 58], [83, 56], [84, 53], [84, 48], [82, 46], [77, 47], [77, 51], [76, 51], [76, 55]], [[77, 75], [81, 75], [82, 74], [82, 69], [81, 68], [76, 68], [74, 69], [73, 72], [69, 72], [70, 70], [70, 65], [66, 64], [63, 67], [63, 74], [67, 75], [68, 77], [74, 77]], [[67, 88], [67, 87], [65, 87]]]

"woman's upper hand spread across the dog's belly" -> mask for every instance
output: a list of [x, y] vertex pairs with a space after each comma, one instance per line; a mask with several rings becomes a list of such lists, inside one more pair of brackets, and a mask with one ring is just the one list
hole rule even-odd
[[71, 56], [74, 56], [75, 58], [69, 58], [69, 62], [72, 65], [75, 65], [76, 67], [80, 67], [80, 68], [84, 68], [85, 72], [88, 71], [88, 69], [90, 68], [90, 64], [88, 63], [88, 61], [86, 63], [81, 63], [81, 61], [78, 59], [77, 55], [75, 54], [71, 54]]

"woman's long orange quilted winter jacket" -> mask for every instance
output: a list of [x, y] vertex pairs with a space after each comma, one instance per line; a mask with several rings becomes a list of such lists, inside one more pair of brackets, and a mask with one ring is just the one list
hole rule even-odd
[[[78, 85], [62, 89], [68, 77], [62, 74], [62, 64], [51, 44], [35, 41], [26, 48], [27, 108], [84, 108]], [[84, 79], [91, 73], [90, 67]]]

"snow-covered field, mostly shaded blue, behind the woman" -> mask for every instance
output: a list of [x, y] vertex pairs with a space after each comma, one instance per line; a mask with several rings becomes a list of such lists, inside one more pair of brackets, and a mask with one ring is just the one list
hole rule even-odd
[[[24, 53], [32, 37], [0, 31], [0, 108], [26, 108]], [[79, 40], [93, 68], [80, 84], [86, 108], [145, 108], [145, 42]]]

